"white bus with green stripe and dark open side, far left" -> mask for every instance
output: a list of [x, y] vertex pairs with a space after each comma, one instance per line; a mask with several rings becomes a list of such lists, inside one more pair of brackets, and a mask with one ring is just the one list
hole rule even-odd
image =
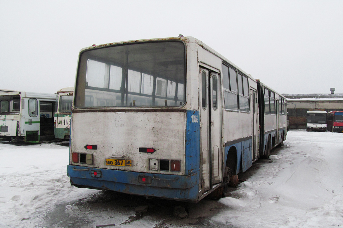
[[1, 140], [38, 143], [54, 139], [55, 103], [56, 94], [1, 92]]

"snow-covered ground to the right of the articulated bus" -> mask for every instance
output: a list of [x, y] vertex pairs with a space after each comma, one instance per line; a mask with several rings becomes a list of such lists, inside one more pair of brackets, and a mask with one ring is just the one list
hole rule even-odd
[[273, 153], [220, 200], [228, 209], [214, 219], [239, 227], [343, 226], [343, 134], [290, 131]]

